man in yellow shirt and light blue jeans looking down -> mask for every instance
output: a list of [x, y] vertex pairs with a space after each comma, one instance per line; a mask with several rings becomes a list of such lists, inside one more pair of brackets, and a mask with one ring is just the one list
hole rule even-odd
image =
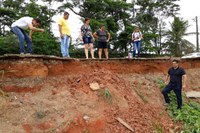
[[70, 44], [70, 40], [72, 40], [69, 23], [67, 21], [68, 18], [69, 18], [69, 13], [64, 12], [63, 17], [60, 18], [58, 21], [58, 28], [59, 28], [60, 39], [61, 39], [60, 49], [61, 49], [62, 57], [66, 57], [66, 58], [70, 57], [69, 44]]

